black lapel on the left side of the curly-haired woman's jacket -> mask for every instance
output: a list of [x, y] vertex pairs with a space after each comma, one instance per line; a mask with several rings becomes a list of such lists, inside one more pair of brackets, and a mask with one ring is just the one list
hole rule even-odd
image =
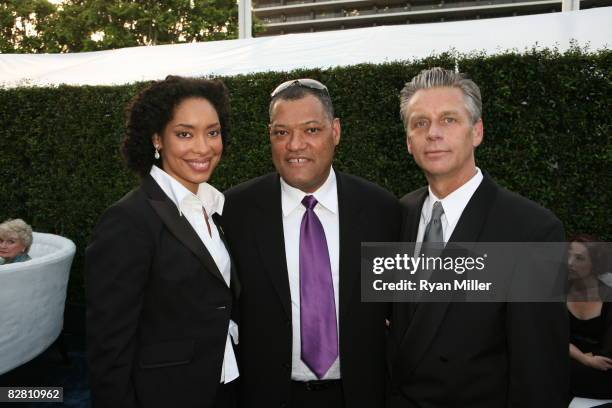
[[219, 268], [217, 268], [217, 264], [206, 249], [206, 246], [202, 243], [202, 240], [200, 240], [200, 237], [198, 237], [198, 234], [189, 224], [189, 221], [184, 216], [179, 215], [176, 205], [166, 196], [157, 185], [157, 182], [153, 180], [153, 177], [145, 177], [142, 186], [150, 197], [149, 203], [157, 215], [159, 215], [166, 228], [177, 240], [193, 252], [204, 266], [204, 269], [226, 285]]

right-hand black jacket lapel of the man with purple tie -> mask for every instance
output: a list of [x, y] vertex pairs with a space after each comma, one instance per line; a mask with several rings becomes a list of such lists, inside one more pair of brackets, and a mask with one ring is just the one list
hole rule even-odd
[[350, 313], [351, 299], [355, 293], [355, 284], [360, 282], [361, 271], [361, 241], [363, 236], [361, 227], [367, 224], [362, 219], [363, 208], [358, 192], [351, 188], [350, 180], [342, 173], [336, 171], [336, 185], [338, 191], [338, 227], [339, 248], [338, 269], [340, 287], [338, 289], [340, 317], [339, 322], [347, 321], [346, 314]]

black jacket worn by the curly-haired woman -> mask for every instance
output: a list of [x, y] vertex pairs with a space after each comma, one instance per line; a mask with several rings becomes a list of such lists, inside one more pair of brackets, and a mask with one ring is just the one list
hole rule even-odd
[[104, 213], [85, 267], [93, 407], [212, 406], [238, 278], [151, 176]]

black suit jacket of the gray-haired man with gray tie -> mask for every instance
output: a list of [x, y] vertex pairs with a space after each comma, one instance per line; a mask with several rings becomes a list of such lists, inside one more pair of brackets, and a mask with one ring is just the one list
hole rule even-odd
[[[401, 199], [402, 235], [416, 240], [427, 187]], [[563, 242], [548, 210], [484, 179], [449, 242]], [[391, 407], [567, 407], [563, 303], [393, 305]], [[413, 314], [414, 312], [414, 314]]]

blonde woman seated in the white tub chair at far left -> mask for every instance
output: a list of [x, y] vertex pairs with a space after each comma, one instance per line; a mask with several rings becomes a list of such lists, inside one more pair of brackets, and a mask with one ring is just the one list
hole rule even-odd
[[30, 260], [32, 228], [17, 218], [0, 224], [0, 265]]

